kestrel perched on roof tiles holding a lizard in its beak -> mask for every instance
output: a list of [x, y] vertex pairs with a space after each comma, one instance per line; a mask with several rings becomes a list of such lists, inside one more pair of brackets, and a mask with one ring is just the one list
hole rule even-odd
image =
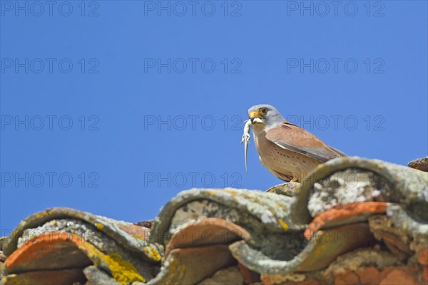
[[336, 157], [347, 156], [340, 150], [326, 145], [307, 130], [285, 120], [272, 105], [254, 105], [248, 109], [248, 116], [243, 135], [245, 167], [246, 147], [250, 139], [249, 127], [253, 128], [260, 162], [273, 175], [285, 182], [300, 183], [317, 165]]

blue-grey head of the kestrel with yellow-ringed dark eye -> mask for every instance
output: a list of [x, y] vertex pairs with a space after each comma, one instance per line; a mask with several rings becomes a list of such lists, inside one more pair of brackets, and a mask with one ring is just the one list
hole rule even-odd
[[248, 116], [250, 117], [253, 128], [257, 125], [263, 125], [267, 128], [275, 128], [285, 119], [280, 112], [272, 105], [260, 104], [255, 105], [248, 109]]

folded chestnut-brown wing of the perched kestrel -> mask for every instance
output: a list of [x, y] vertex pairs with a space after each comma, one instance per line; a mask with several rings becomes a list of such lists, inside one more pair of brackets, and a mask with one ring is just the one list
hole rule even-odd
[[279, 147], [307, 155], [321, 162], [346, 156], [345, 153], [329, 147], [315, 135], [300, 128], [298, 125], [288, 122], [284, 122], [278, 127], [268, 130], [266, 138]]

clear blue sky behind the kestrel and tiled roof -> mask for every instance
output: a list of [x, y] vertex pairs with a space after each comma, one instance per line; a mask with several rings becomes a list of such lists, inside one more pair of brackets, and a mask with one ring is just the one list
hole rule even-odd
[[47, 207], [137, 222], [191, 187], [280, 183], [253, 142], [245, 173], [260, 103], [347, 155], [427, 155], [427, 1], [0, 3], [1, 235]]

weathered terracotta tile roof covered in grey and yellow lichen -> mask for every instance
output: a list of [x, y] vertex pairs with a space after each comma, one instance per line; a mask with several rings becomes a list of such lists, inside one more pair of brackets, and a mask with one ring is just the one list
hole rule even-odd
[[342, 157], [301, 185], [188, 190], [136, 224], [47, 209], [0, 239], [1, 282], [424, 284], [425, 160]]

